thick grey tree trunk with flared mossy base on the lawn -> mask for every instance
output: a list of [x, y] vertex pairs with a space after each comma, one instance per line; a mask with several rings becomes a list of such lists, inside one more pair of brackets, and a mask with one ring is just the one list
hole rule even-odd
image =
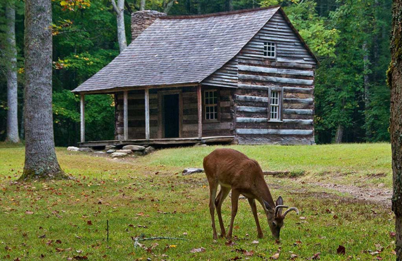
[[51, 0], [25, 1], [25, 166], [20, 180], [65, 178], [54, 149]]

